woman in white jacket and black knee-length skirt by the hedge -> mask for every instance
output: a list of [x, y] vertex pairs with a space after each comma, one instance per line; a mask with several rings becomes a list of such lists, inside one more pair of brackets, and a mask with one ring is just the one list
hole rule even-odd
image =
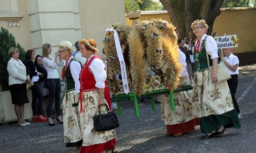
[[29, 103], [26, 84], [30, 83], [30, 79], [26, 75], [26, 66], [18, 59], [19, 49], [15, 47], [10, 48], [8, 55], [11, 57], [7, 64], [7, 70], [9, 73], [12, 104], [14, 104], [18, 125], [25, 127], [30, 125], [30, 123], [24, 120], [24, 104]]

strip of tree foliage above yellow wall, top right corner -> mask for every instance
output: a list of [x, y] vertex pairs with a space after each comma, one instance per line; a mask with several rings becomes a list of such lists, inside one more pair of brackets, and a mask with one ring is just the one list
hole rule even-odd
[[221, 8], [255, 7], [256, 0], [225, 0]]

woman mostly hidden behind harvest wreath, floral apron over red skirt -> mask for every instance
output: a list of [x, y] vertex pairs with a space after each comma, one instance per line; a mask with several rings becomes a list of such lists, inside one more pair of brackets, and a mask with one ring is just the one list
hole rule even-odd
[[[186, 70], [186, 56], [180, 50], [179, 61], [183, 64], [182, 86], [190, 85]], [[193, 114], [192, 90], [177, 92], [173, 96], [174, 111], [171, 110], [169, 95], [161, 96], [162, 120], [167, 126], [167, 134], [177, 137], [182, 136], [185, 132], [195, 131], [195, 126], [199, 125], [199, 119], [197, 115]]]

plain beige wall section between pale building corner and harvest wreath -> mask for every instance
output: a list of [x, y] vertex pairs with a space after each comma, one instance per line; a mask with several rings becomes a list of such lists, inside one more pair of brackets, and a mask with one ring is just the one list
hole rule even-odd
[[125, 23], [124, 1], [120, 0], [78, 0], [83, 39], [94, 39], [102, 54], [106, 28], [115, 23]]

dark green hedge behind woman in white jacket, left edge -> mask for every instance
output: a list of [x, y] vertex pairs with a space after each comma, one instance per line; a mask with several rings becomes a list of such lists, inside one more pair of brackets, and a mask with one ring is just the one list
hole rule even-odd
[[19, 49], [19, 59], [24, 63], [26, 54], [25, 50], [19, 45], [19, 43], [16, 44], [15, 37], [12, 33], [9, 33], [9, 31], [2, 26], [0, 31], [0, 91], [9, 90], [7, 63], [10, 60], [8, 51], [11, 47], [17, 47]]

